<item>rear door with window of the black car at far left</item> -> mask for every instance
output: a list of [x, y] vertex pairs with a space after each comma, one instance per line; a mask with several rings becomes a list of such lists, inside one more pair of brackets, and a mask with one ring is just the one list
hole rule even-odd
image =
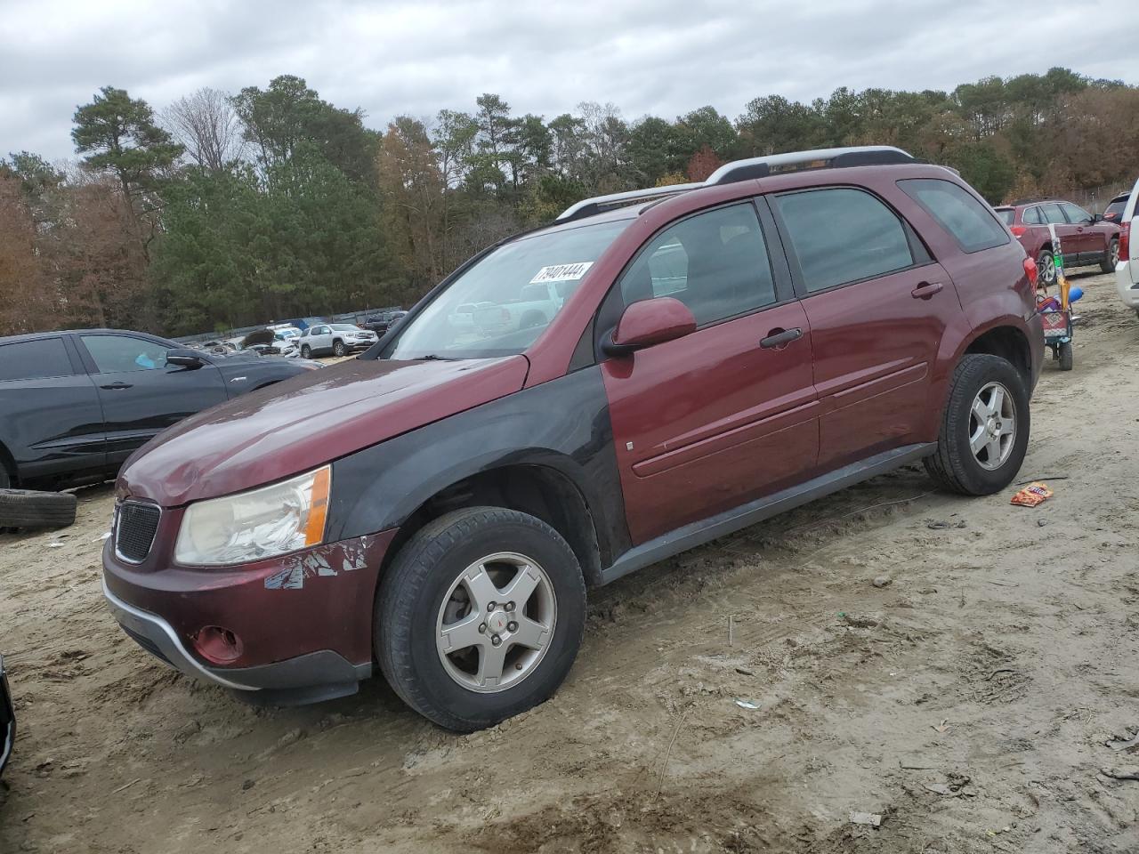
[[66, 335], [0, 342], [0, 444], [23, 479], [105, 467], [99, 395]]

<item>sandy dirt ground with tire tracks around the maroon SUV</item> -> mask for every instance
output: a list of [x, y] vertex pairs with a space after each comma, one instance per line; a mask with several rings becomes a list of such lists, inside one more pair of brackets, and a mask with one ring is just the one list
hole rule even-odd
[[1055, 498], [907, 468], [642, 570], [554, 699], [475, 734], [379, 680], [267, 711], [166, 668], [104, 608], [112, 493], [81, 491], [0, 536], [0, 852], [1139, 851], [1109, 775], [1139, 771], [1139, 321], [1075, 278], [1018, 478]]

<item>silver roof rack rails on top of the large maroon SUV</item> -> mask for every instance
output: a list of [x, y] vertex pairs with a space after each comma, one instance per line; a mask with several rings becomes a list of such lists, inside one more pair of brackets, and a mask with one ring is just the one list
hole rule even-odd
[[678, 183], [669, 187], [652, 187], [644, 190], [614, 192], [609, 196], [595, 196], [571, 205], [556, 222], [570, 222], [585, 216], [593, 216], [603, 211], [637, 202], [649, 202], [675, 196], [700, 187], [715, 187], [737, 181], [748, 181], [767, 178], [784, 172], [800, 172], [814, 169], [846, 169], [849, 166], [884, 166], [899, 163], [917, 163], [918, 161], [901, 148], [893, 146], [857, 146], [851, 148], [818, 148], [810, 151], [789, 151], [773, 154], [767, 157], [751, 157], [746, 161], [734, 161], [713, 172], [706, 181], [697, 183]]

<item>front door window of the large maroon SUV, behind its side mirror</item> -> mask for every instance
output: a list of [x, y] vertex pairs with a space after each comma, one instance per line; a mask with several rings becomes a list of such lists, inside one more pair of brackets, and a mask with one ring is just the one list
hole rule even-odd
[[699, 326], [776, 302], [760, 220], [751, 203], [681, 220], [645, 246], [621, 277], [625, 303], [671, 296]]

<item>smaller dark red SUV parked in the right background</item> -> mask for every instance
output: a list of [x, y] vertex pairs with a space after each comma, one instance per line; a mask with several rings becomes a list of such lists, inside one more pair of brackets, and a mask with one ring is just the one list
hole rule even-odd
[[1120, 227], [1092, 216], [1079, 205], [1059, 199], [1018, 202], [997, 208], [997, 215], [1008, 225], [1030, 258], [1035, 258], [1040, 284], [1056, 284], [1056, 261], [1051, 230], [1064, 251], [1064, 266], [1098, 264], [1105, 273], [1115, 272], [1120, 260]]

